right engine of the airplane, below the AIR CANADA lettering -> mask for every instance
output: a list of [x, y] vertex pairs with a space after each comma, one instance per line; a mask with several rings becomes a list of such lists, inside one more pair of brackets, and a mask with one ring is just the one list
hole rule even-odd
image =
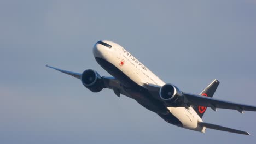
[[182, 97], [182, 92], [172, 84], [165, 84], [159, 91], [161, 99], [168, 101], [168, 103], [176, 103]]

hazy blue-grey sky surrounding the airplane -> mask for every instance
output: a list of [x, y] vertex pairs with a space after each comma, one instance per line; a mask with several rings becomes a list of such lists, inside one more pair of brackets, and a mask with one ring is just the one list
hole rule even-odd
[[255, 112], [208, 109], [203, 121], [252, 136], [166, 123], [135, 100], [46, 68], [110, 76], [98, 40], [124, 46], [166, 83], [256, 105], [256, 1], [0, 1], [0, 143], [253, 143]]

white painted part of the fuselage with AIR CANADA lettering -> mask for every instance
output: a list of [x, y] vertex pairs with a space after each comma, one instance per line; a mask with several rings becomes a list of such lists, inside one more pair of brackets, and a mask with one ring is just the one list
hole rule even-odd
[[[112, 41], [103, 40], [103, 42], [112, 45], [112, 47], [108, 48], [101, 44], [95, 44], [93, 49], [95, 57], [105, 59], [113, 64], [139, 86], [143, 87], [145, 83], [158, 86], [165, 85], [164, 81], [139, 62], [137, 58], [133, 57], [124, 47]], [[185, 107], [167, 107], [167, 109], [181, 121], [183, 128], [205, 132], [205, 128], [197, 124], [202, 122], [202, 119], [192, 107], [189, 107], [189, 109]]]

